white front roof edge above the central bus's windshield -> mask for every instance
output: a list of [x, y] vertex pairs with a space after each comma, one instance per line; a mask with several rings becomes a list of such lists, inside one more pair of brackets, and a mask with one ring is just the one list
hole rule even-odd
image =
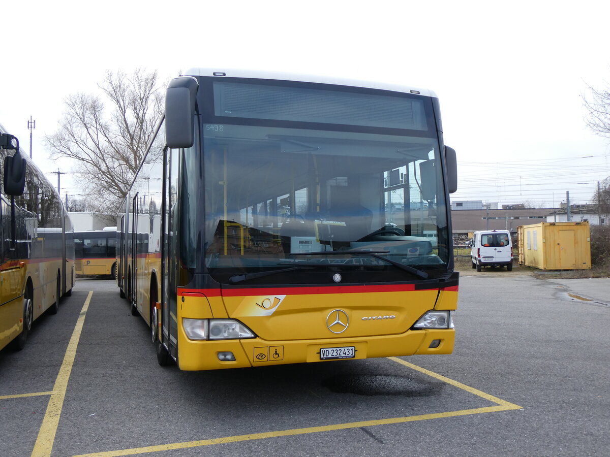
[[260, 71], [235, 68], [189, 68], [182, 73], [182, 76], [226, 76], [234, 78], [254, 78], [254, 79], [276, 79], [287, 81], [315, 82], [321, 84], [336, 84], [341, 86], [364, 87], [370, 89], [390, 90], [403, 93], [415, 93], [428, 97], [436, 97], [434, 91], [422, 88], [408, 87], [398, 84], [351, 80], [338, 77], [318, 76], [311, 74], [298, 73], [278, 73], [273, 71]]

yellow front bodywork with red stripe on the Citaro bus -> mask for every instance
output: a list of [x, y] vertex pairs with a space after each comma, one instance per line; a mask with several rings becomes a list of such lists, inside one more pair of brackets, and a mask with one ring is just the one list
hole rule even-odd
[[[220, 291], [189, 291], [178, 300], [179, 367], [209, 370], [316, 362], [320, 361], [320, 349], [329, 347], [353, 346], [355, 359], [453, 352], [453, 328], [410, 328], [426, 311], [455, 310], [457, 286], [440, 290], [414, 290], [412, 285], [411, 289], [408, 285], [390, 291], [383, 288], [229, 289], [229, 296], [221, 296]], [[332, 321], [337, 310], [345, 312], [349, 321], [345, 330], [333, 333], [327, 321]], [[231, 317], [257, 337], [193, 341], [184, 333], [183, 317]], [[433, 340], [440, 340], [440, 344], [431, 348]], [[218, 360], [219, 352], [232, 352], [235, 361]]]

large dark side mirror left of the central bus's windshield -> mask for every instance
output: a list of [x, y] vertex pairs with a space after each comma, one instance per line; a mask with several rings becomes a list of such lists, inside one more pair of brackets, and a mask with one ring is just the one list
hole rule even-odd
[[192, 76], [170, 81], [165, 93], [165, 140], [173, 149], [193, 146], [195, 102], [199, 84]]

